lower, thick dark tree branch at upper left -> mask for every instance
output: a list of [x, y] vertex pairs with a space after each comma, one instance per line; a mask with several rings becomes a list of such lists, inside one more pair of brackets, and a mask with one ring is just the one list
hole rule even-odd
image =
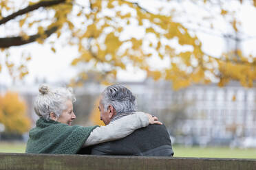
[[[52, 27], [50, 29], [45, 30], [44, 34], [46, 37], [50, 36], [52, 33], [56, 32], [58, 27]], [[37, 38], [40, 38], [42, 34], [34, 34], [29, 36], [28, 40], [24, 40], [22, 36], [16, 37], [8, 37], [8, 38], [0, 38], [0, 48], [8, 48], [12, 46], [25, 45], [30, 42], [34, 42]]]

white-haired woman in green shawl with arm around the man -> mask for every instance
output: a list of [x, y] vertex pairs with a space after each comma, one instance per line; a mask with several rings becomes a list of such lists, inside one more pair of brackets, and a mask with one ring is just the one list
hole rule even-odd
[[[107, 141], [114, 141], [150, 124], [161, 124], [156, 117], [136, 112], [106, 126], [71, 126], [76, 119], [72, 88], [39, 87], [34, 110], [39, 119], [30, 130], [26, 153], [76, 154], [79, 149]], [[107, 135], [106, 135], [107, 134]]]

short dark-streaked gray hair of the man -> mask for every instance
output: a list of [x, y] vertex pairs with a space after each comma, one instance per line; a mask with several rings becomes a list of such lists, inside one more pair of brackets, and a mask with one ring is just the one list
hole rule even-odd
[[113, 106], [117, 114], [137, 110], [136, 97], [128, 88], [120, 84], [105, 88], [102, 93], [101, 104], [103, 104], [105, 111], [109, 105]]

